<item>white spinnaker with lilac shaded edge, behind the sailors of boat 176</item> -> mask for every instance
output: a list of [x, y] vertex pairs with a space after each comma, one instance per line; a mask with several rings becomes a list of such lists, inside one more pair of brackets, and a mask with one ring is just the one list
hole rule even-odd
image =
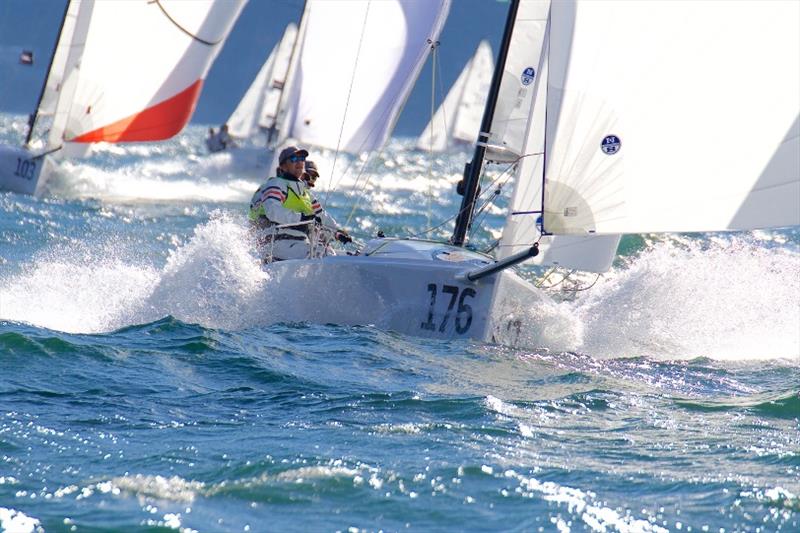
[[281, 139], [380, 148], [439, 37], [450, 0], [309, 0]]

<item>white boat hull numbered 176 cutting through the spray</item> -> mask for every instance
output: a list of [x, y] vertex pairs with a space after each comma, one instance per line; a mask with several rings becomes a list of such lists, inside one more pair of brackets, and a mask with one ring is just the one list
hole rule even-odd
[[[369, 255], [381, 243], [395, 253]], [[548, 300], [510, 271], [467, 281], [461, 274], [491, 260], [424, 241], [423, 250], [408, 253], [409, 245], [419, 243], [381, 239], [367, 245], [367, 255], [266, 265], [274, 287], [272, 307], [289, 322], [374, 325], [420, 337], [514, 344], [521, 333], [520, 312]], [[446, 256], [456, 260], [441, 259]]]

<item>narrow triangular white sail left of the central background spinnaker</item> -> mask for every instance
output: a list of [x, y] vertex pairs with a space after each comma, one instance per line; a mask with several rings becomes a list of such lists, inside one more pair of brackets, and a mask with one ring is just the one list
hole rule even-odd
[[297, 25], [291, 23], [228, 118], [228, 132], [234, 137], [250, 137], [259, 127], [269, 128], [274, 125], [280, 87], [286, 78], [296, 37]]

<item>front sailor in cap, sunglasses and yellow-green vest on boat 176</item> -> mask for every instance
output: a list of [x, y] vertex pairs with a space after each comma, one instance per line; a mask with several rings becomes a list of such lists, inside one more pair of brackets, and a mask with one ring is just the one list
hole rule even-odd
[[[250, 201], [250, 222], [258, 231], [258, 243], [262, 248], [264, 261], [284, 259], [304, 259], [312, 251], [309, 234], [316, 231], [316, 225], [328, 228], [342, 243], [352, 242], [343, 229], [311, 194], [302, 177], [305, 172], [308, 152], [296, 146], [284, 148], [279, 156], [276, 176], [258, 188]], [[322, 250], [313, 251], [320, 255], [332, 254], [327, 243]]]

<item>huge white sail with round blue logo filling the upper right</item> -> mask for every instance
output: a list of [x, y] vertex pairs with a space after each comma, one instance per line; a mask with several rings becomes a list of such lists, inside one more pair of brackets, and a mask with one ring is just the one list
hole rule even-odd
[[554, 2], [545, 229], [800, 224], [798, 20], [798, 2]]

